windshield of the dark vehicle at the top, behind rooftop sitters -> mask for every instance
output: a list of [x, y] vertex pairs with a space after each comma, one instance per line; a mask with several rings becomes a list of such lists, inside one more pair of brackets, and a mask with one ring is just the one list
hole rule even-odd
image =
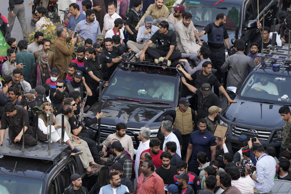
[[236, 29], [239, 25], [240, 5], [231, 3], [218, 3], [217, 1], [192, 1], [185, 0], [183, 5], [186, 12], [192, 14], [194, 25], [205, 27], [207, 24], [215, 22], [216, 15], [224, 13], [226, 15], [226, 28]]

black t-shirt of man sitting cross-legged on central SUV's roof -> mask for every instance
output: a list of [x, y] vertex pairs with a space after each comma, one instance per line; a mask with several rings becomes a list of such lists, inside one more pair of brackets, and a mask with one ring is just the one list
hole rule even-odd
[[172, 30], [169, 30], [167, 34], [160, 34], [158, 30], [152, 35], [152, 38], [150, 38], [150, 40], [152, 42], [155, 42], [157, 40], [157, 48], [163, 51], [169, 51], [170, 46], [176, 46], [176, 34]]

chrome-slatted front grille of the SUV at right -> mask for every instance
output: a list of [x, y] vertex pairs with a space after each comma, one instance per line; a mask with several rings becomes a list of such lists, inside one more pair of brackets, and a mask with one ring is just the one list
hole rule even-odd
[[[254, 130], [257, 133], [249, 132], [249, 130]], [[271, 134], [271, 131], [262, 131], [258, 129], [248, 129], [243, 127], [237, 127], [232, 125], [232, 134], [239, 136], [239, 135], [246, 135], [248, 138], [257, 137], [258, 139], [267, 140]]]

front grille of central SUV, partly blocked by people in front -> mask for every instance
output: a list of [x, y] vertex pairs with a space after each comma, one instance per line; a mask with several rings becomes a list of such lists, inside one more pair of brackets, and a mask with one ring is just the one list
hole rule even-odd
[[[97, 130], [98, 123], [91, 125], [91, 127]], [[116, 128], [116, 126], [114, 126], [114, 125], [101, 124], [100, 141], [103, 142], [107, 138], [108, 135], [115, 133], [115, 128]], [[140, 140], [138, 139], [139, 131], [140, 131], [140, 129], [128, 127], [126, 132], [125, 132], [127, 135], [129, 135], [131, 137], [134, 147], [139, 146], [139, 142], [140, 142]], [[156, 138], [156, 136], [157, 136], [156, 130], [154, 130], [154, 131], [151, 130], [150, 138]]]

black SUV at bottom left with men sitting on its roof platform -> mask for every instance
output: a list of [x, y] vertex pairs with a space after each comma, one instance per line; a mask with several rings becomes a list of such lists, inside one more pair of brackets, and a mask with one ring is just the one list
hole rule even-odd
[[[90, 194], [104, 185], [104, 178], [99, 180], [98, 174], [86, 176], [79, 156], [73, 157], [65, 152], [67, 146], [52, 143], [51, 156], [48, 157], [48, 143], [45, 142], [25, 146], [24, 154], [21, 145], [14, 144], [10, 148], [7, 144], [8, 140], [4, 139], [0, 147], [0, 193], [62, 194], [71, 183], [73, 173], [82, 176], [82, 184]], [[101, 177], [105, 177], [104, 171], [107, 173], [107, 169], [99, 172]]]

